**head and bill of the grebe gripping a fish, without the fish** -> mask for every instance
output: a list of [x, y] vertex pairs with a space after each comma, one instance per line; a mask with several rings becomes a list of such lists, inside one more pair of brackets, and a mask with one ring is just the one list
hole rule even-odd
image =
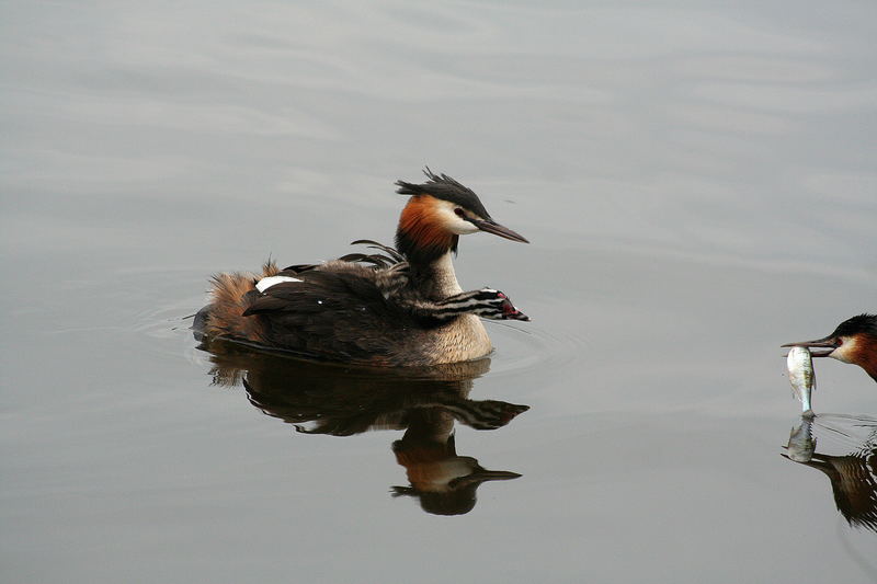
[[877, 381], [877, 314], [858, 314], [841, 322], [828, 336], [781, 346], [806, 346], [813, 357], [858, 365]]

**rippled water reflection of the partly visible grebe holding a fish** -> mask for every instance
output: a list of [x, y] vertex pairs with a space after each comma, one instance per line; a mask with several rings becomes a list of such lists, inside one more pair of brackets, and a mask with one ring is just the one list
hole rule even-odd
[[877, 531], [877, 419], [801, 416], [783, 456], [824, 472], [847, 523]]

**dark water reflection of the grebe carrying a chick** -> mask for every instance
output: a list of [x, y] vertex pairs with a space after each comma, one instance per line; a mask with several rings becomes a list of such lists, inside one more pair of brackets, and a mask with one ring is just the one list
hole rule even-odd
[[415, 497], [428, 513], [468, 513], [480, 484], [520, 477], [487, 470], [456, 451], [456, 422], [496, 430], [529, 409], [468, 399], [489, 359], [378, 371], [257, 353], [224, 341], [202, 340], [200, 348], [210, 353], [214, 385], [243, 386], [250, 403], [301, 434], [403, 430], [392, 451], [410, 485], [394, 486], [392, 496]]

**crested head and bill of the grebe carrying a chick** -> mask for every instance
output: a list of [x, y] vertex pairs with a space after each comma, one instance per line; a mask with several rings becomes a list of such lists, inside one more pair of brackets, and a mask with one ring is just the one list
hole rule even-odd
[[429, 179], [423, 184], [396, 182], [397, 193], [411, 196], [396, 231], [396, 247], [409, 260], [432, 261], [457, 251], [459, 236], [477, 231], [529, 243], [494, 221], [471, 188], [429, 168], [423, 172]]

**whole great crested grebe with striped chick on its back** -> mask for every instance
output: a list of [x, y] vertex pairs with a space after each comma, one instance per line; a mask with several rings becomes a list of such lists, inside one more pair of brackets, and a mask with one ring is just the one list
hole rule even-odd
[[499, 290], [463, 291], [452, 253], [459, 236], [486, 231], [528, 243], [497, 224], [478, 196], [445, 174], [397, 181], [410, 195], [396, 249], [361, 240], [383, 254], [353, 253], [322, 264], [261, 275], [218, 274], [195, 330], [259, 347], [375, 366], [470, 360], [491, 352], [480, 318], [529, 320]]

